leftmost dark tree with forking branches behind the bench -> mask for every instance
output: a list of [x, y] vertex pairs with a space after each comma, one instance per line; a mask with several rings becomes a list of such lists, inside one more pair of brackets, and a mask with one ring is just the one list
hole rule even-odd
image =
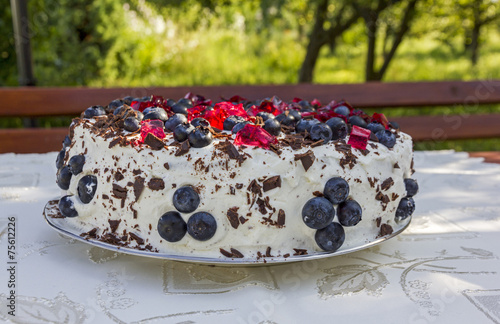
[[[360, 17], [358, 11], [353, 10], [351, 4], [346, 1], [339, 4], [339, 9], [328, 17], [328, 0], [321, 0], [316, 8], [314, 27], [309, 35], [307, 52], [299, 73], [300, 83], [309, 83], [313, 80], [314, 66], [318, 60], [320, 50], [329, 45], [330, 50], [335, 51], [337, 39], [344, 31], [349, 29]], [[325, 28], [326, 23], [330, 27]]]

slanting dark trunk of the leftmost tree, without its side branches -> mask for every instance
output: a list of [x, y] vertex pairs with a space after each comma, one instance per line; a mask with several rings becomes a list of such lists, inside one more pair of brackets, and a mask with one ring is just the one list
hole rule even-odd
[[319, 51], [326, 43], [325, 30], [323, 24], [326, 19], [326, 12], [328, 10], [328, 0], [322, 0], [318, 4], [316, 10], [316, 21], [314, 28], [309, 36], [309, 44], [307, 45], [306, 57], [302, 63], [299, 72], [299, 83], [311, 83], [313, 79], [314, 66], [318, 60]]

